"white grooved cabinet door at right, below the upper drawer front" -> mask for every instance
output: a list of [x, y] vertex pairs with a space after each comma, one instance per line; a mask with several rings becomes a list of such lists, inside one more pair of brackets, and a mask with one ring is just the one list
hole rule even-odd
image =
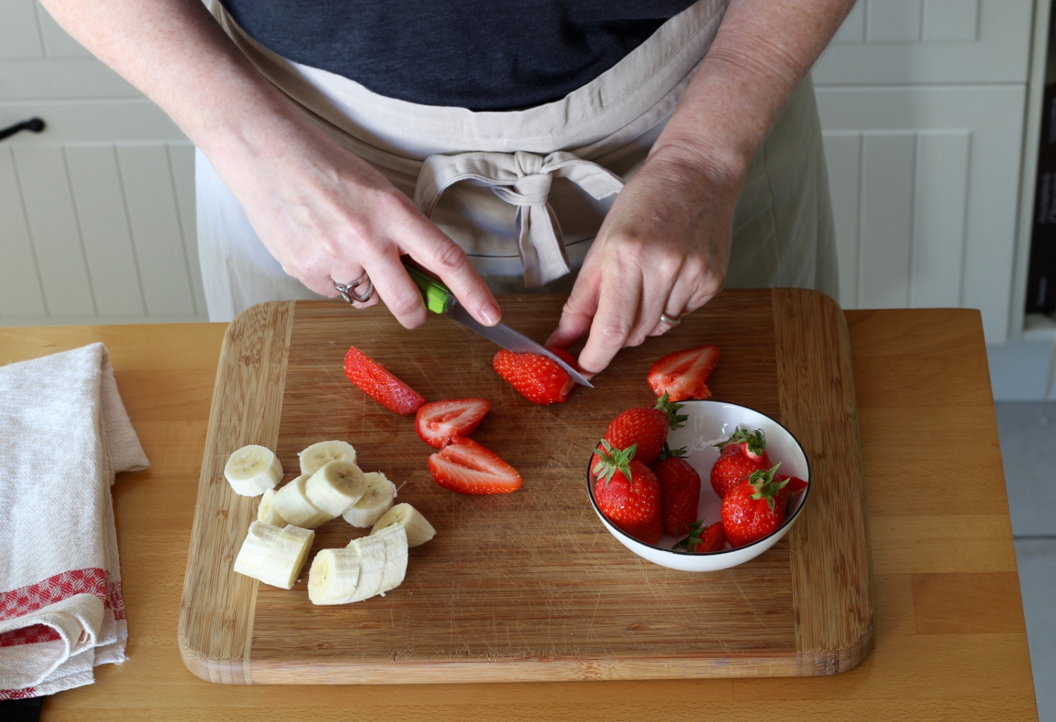
[[979, 308], [1007, 334], [1025, 87], [818, 88], [845, 308]]

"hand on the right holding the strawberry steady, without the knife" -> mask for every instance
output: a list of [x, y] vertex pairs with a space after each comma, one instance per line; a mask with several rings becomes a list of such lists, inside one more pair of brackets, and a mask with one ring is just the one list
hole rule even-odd
[[671, 329], [661, 314], [678, 319], [708, 303], [725, 279], [742, 175], [657, 149], [612, 204], [547, 345], [589, 331], [579, 361], [597, 374], [624, 346]]

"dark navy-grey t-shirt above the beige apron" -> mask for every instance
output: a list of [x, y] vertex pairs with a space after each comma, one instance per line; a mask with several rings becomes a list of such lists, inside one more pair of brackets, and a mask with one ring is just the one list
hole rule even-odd
[[254, 40], [375, 93], [475, 111], [585, 86], [693, 0], [222, 0]]

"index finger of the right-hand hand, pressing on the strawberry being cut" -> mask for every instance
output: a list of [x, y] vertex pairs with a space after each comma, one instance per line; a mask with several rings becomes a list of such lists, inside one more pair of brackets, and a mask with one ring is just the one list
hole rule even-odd
[[580, 353], [580, 366], [597, 374], [623, 348], [638, 317], [641, 292], [642, 276], [637, 264], [609, 264], [602, 271], [598, 311]]

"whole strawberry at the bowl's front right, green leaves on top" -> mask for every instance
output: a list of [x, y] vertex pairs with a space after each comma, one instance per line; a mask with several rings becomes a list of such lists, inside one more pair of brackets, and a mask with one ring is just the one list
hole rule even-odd
[[775, 478], [777, 467], [754, 472], [722, 498], [722, 530], [732, 547], [757, 542], [785, 521], [788, 480]]

